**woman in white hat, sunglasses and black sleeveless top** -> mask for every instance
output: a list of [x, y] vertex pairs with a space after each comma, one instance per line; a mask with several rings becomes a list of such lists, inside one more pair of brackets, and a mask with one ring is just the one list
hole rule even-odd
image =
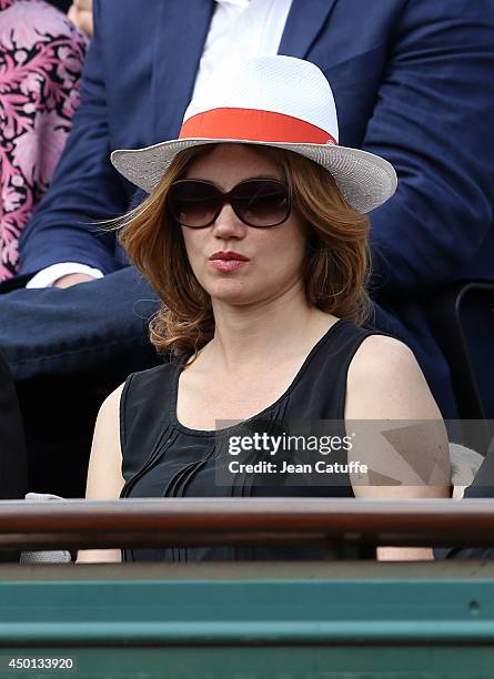
[[[365, 213], [391, 197], [396, 176], [385, 160], [337, 145], [332, 91], [315, 65], [246, 60], [216, 77], [208, 101], [190, 104], [178, 140], [115, 151], [112, 162], [150, 193], [127, 215], [121, 240], [163, 302], [152, 342], [174, 358], [131, 375], [103, 404], [88, 498], [448, 495], [434, 480], [361, 485], [347, 469], [343, 485], [302, 491], [244, 474], [216, 483], [216, 429], [235, 432], [219, 420], [340, 420], [342, 436], [345, 419], [441, 422], [412, 352], [362, 328], [370, 310]], [[423, 446], [444, 470], [444, 427]], [[286, 551], [124, 553], [125, 560], [143, 558]], [[120, 553], [80, 556], [101, 559]]]

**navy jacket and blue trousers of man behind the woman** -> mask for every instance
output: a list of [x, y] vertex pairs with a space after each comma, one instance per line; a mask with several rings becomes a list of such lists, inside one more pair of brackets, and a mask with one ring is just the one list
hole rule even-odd
[[[3, 287], [0, 347], [17, 381], [88, 369], [110, 388], [155, 361], [145, 340], [154, 293], [94, 221], [123, 213], [134, 194], [110, 151], [178, 135], [213, 9], [213, 0], [148, 0], [145, 10], [94, 1], [82, 103], [24, 230], [13, 285], [60, 262], [104, 277], [63, 291]], [[342, 145], [396, 169], [397, 193], [371, 213], [375, 324], [411, 346], [443, 416], [454, 417], [425, 305], [455, 281], [493, 277], [494, 4], [293, 0], [279, 53], [326, 74]]]

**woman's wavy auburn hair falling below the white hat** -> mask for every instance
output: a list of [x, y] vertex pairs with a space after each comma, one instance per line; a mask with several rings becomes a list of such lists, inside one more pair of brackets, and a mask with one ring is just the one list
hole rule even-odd
[[[218, 144], [179, 153], [154, 191], [121, 222], [119, 240], [131, 262], [158, 292], [162, 306], [150, 322], [160, 353], [194, 353], [214, 335], [210, 295], [199, 284], [181, 229], [165, 207], [171, 184], [189, 164]], [[362, 324], [369, 315], [369, 217], [343, 199], [333, 176], [313, 161], [283, 149], [251, 145], [278, 165], [292, 189], [293, 210], [305, 223], [302, 267], [305, 295], [317, 308]]]

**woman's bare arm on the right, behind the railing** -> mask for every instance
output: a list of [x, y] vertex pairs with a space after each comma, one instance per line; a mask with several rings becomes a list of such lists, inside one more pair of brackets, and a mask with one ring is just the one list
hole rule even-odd
[[[349, 369], [345, 420], [355, 429], [349, 462], [371, 470], [352, 475], [355, 497], [451, 496], [445, 426], [407, 346], [384, 335], [362, 343]], [[432, 549], [380, 547], [377, 558], [431, 559]]]

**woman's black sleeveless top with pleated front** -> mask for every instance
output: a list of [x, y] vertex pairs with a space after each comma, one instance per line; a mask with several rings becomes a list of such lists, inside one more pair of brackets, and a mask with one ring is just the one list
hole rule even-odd
[[[340, 420], [335, 435], [345, 436], [344, 408], [350, 363], [365, 337], [377, 334], [345, 320], [337, 321], [309, 353], [286, 392], [242, 426], [261, 422], [263, 429], [291, 420]], [[354, 497], [350, 477], [323, 486], [256, 484], [252, 475], [231, 475], [219, 485], [218, 458], [221, 436], [198, 430], [177, 419], [180, 366], [186, 356], [133, 373], [120, 402], [122, 474], [121, 497]], [[253, 427], [255, 429], [255, 426]], [[223, 429], [226, 435], [232, 427]], [[346, 463], [346, 453], [340, 462]], [[231, 458], [230, 458], [231, 459]], [[309, 547], [177, 547], [125, 549], [123, 560], [274, 560], [316, 559], [321, 549]]]

